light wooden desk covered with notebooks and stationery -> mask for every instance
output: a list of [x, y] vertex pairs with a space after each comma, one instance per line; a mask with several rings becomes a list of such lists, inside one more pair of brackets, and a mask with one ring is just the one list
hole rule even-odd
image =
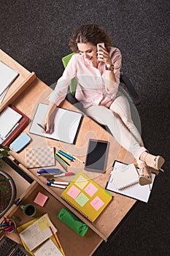
[[[0, 59], [3, 60], [4, 53], [0, 52]], [[8, 61], [8, 64], [14, 65], [16, 61], [13, 59], [8, 59], [5, 55], [6, 61]], [[11, 66], [13, 67], [13, 66]], [[22, 73], [22, 68], [20, 67], [20, 73]], [[25, 72], [25, 69], [24, 69]], [[30, 74], [28, 74], [30, 77]], [[12, 105], [15, 105], [19, 110], [21, 110], [23, 113], [25, 113], [30, 119], [33, 118], [34, 112], [36, 110], [36, 105], [38, 102], [47, 102], [47, 96], [51, 93], [50, 87], [48, 87], [45, 83], [43, 83], [41, 80], [35, 77], [34, 74], [31, 75], [31, 81], [27, 86], [27, 89], [22, 89], [21, 93], [18, 92], [18, 97], [15, 97], [15, 100], [11, 102], [11, 99], [9, 97], [10, 103]], [[17, 83], [17, 80], [14, 82]], [[14, 86], [12, 85], [12, 86]], [[9, 102], [6, 101], [6, 104]], [[69, 102], [66, 100], [61, 105], [62, 108], [69, 108], [72, 110], [77, 110], [77, 108], [74, 108]], [[80, 111], [80, 110], [77, 110]], [[97, 138], [98, 140], [109, 140], [109, 157], [107, 161], [107, 171], [104, 174], [98, 175], [98, 173], [90, 173], [86, 172], [84, 170], [84, 166], [82, 163], [75, 161], [72, 163], [72, 166], [69, 167], [69, 170], [73, 170], [75, 173], [78, 171], [83, 171], [87, 176], [90, 178], [93, 178], [94, 181], [96, 181], [98, 184], [101, 185], [101, 187], [105, 187], [107, 184], [107, 180], [109, 178], [109, 172], [112, 169], [112, 163], [115, 161], [115, 159], [131, 163], [133, 162], [134, 158], [133, 156], [125, 151], [124, 148], [122, 148], [115, 140], [115, 138], [112, 137], [109, 133], [107, 133], [101, 126], [96, 124], [95, 121], [88, 118], [88, 116], [84, 116], [82, 125], [80, 128], [80, 132], [77, 137], [77, 141], [75, 145], [71, 145], [68, 143], [61, 143], [60, 141], [56, 140], [50, 140], [47, 138], [40, 138], [36, 135], [29, 134], [30, 125], [26, 127], [26, 129], [23, 132], [27, 132], [28, 135], [32, 138], [31, 143], [28, 147], [37, 147], [37, 146], [54, 146], [55, 148], [63, 149], [63, 151], [69, 151], [72, 152], [72, 154], [76, 155], [77, 157], [81, 159], [85, 159], [85, 154], [87, 151], [88, 146], [88, 139], [89, 138]], [[90, 227], [88, 230], [87, 235], [84, 238], [77, 237], [76, 233], [73, 233], [72, 230], [70, 230], [68, 227], [63, 228], [61, 232], [61, 242], [63, 244], [63, 249], [65, 252], [67, 252], [66, 255], [75, 255], [75, 251], [72, 248], [72, 244], [79, 244], [80, 248], [83, 246], [85, 249], [84, 252], [81, 250], [81, 255], [91, 255], [95, 249], [101, 244], [103, 240], [107, 241], [107, 238], [112, 233], [113, 230], [115, 230], [115, 227], [120, 223], [120, 221], [125, 217], [125, 215], [128, 213], [128, 211], [131, 209], [132, 206], [134, 206], [134, 203], [136, 203], [136, 200], [125, 197], [123, 195], [118, 195], [116, 193], [113, 193], [114, 198], [111, 203], [109, 203], [109, 206], [104, 210], [104, 212], [96, 219], [95, 222], [91, 223], [83, 217], [78, 211], [74, 210], [71, 206], [69, 206], [65, 201], [63, 201], [60, 197], [62, 190], [56, 189], [53, 187], [47, 187], [46, 185], [46, 178], [45, 177], [39, 177], [36, 176], [36, 170], [38, 168], [34, 169], [27, 169], [26, 162], [25, 162], [25, 151], [21, 151], [19, 154], [11, 151], [11, 157], [10, 159], [14, 160], [17, 159], [19, 162], [19, 167], [21, 170], [23, 170], [25, 173], [28, 174], [28, 176], [31, 176], [31, 178], [35, 181], [35, 187], [34, 184], [31, 184], [31, 193], [26, 192], [26, 195], [28, 196], [27, 200], [30, 201], [32, 198], [35, 197], [36, 192], [40, 189], [43, 190], [43, 192], [48, 192], [50, 194], [49, 197], [53, 201], [53, 205], [55, 205], [55, 208], [48, 208], [45, 207], [41, 209], [42, 211], [47, 211], [50, 214], [51, 219], [54, 221], [54, 224], [56, 223], [56, 214], [58, 214], [59, 209], [61, 209], [63, 206], [66, 206], [66, 208], [69, 208], [70, 211], [72, 211], [77, 217], [82, 219], [83, 222], [87, 223]], [[56, 163], [56, 167], [61, 167]], [[65, 178], [66, 180], [69, 180], [72, 177]], [[40, 186], [41, 185], [41, 186]], [[36, 190], [37, 189], [37, 190]], [[46, 190], [47, 189], [47, 190]], [[28, 190], [28, 189], [27, 189]], [[25, 197], [23, 197], [24, 199]], [[9, 211], [9, 214], [16, 215], [19, 214], [17, 206], [11, 209], [11, 212]], [[25, 219], [24, 219], [25, 221]], [[60, 226], [62, 224], [58, 224], [59, 220], [56, 223], [56, 226], [58, 227], [58, 230], [60, 230]], [[17, 223], [19, 225], [19, 223]], [[71, 239], [72, 237], [72, 239]], [[78, 242], [79, 241], [79, 242]], [[77, 247], [77, 245], [76, 245]], [[68, 249], [69, 248], [69, 249]], [[77, 248], [78, 249], [78, 248]], [[84, 253], [84, 254], [83, 254]]]

